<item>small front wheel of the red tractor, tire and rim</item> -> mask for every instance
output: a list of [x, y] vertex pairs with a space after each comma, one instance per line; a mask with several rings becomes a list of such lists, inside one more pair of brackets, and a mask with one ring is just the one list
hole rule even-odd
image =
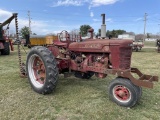
[[132, 107], [137, 103], [141, 96], [138, 91], [141, 90], [125, 78], [116, 78], [109, 84], [109, 98], [123, 107]]

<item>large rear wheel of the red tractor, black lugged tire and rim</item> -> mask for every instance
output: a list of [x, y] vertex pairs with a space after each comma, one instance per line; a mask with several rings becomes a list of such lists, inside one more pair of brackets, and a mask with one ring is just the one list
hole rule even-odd
[[27, 74], [31, 87], [40, 94], [49, 94], [56, 88], [58, 69], [55, 57], [45, 47], [36, 46], [27, 56]]

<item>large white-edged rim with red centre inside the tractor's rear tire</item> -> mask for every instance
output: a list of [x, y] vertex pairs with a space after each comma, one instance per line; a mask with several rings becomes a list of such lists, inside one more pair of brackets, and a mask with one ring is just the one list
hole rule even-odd
[[28, 72], [32, 84], [36, 88], [41, 88], [46, 81], [46, 70], [42, 59], [34, 54], [28, 62]]

